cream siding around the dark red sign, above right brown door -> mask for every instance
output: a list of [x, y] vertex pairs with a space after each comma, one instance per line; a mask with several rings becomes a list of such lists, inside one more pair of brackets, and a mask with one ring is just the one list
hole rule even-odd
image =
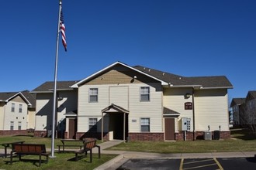
[[192, 88], [164, 88], [164, 107], [180, 113], [179, 117], [175, 118], [175, 132], [182, 131], [182, 117], [191, 118], [190, 131], [193, 131], [193, 110], [185, 110], [185, 102], [192, 102], [192, 96], [185, 98], [185, 93], [192, 94]]

